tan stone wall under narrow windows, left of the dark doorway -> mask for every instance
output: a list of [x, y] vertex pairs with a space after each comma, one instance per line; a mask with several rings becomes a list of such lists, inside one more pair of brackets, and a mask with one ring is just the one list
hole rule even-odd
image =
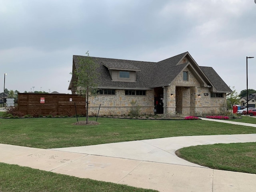
[[90, 97], [89, 115], [127, 115], [130, 111], [131, 101], [136, 101], [141, 106], [141, 114], [153, 114], [154, 90], [146, 90], [146, 95], [125, 95], [124, 89], [116, 89], [116, 95], [96, 95]]

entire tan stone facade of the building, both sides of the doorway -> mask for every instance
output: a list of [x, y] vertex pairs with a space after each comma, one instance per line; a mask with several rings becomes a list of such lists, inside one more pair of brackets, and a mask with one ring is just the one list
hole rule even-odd
[[[220, 106], [226, 102], [223, 97], [211, 97], [211, 88], [201, 87], [193, 73], [186, 68], [188, 80], [183, 80], [183, 71], [169, 86], [163, 87], [164, 114], [200, 116], [218, 114]], [[146, 90], [146, 95], [125, 95], [124, 89], [116, 89], [115, 95], [96, 95], [91, 97], [89, 111], [93, 115], [128, 115], [131, 102], [136, 101], [141, 106], [141, 114], [154, 114], [154, 90]], [[90, 114], [91, 115], [91, 114]]]

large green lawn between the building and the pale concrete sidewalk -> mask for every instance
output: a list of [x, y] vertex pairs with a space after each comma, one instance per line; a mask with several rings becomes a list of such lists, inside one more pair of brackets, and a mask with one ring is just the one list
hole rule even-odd
[[254, 127], [203, 120], [98, 118], [100, 125], [72, 125], [75, 122], [76, 118], [0, 119], [0, 143], [59, 148], [187, 135], [256, 133]]

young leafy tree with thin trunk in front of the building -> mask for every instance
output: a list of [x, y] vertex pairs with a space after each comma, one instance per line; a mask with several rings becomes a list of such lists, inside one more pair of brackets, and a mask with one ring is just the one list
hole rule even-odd
[[94, 62], [89, 52], [86, 52], [86, 57], [78, 57], [78, 67], [73, 73], [76, 75], [77, 80], [74, 82], [77, 91], [86, 98], [86, 124], [88, 124], [88, 105], [89, 97], [97, 93], [97, 77], [99, 73], [97, 68], [99, 65]]

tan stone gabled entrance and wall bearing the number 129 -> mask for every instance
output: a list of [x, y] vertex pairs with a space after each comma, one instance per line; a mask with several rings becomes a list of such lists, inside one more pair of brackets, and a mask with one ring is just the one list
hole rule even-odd
[[[183, 81], [183, 73], [181, 73], [170, 86], [166, 87], [166, 113], [175, 114], [176, 97], [182, 97], [180, 100], [182, 101], [182, 115], [217, 114], [220, 105], [226, 102], [226, 94], [223, 93], [223, 98], [211, 97], [210, 88], [201, 87], [188, 68], [184, 71], [188, 71], [188, 81]], [[176, 94], [176, 86], [182, 89], [182, 94]], [[208, 95], [206, 96], [204, 93], [208, 93]]]

